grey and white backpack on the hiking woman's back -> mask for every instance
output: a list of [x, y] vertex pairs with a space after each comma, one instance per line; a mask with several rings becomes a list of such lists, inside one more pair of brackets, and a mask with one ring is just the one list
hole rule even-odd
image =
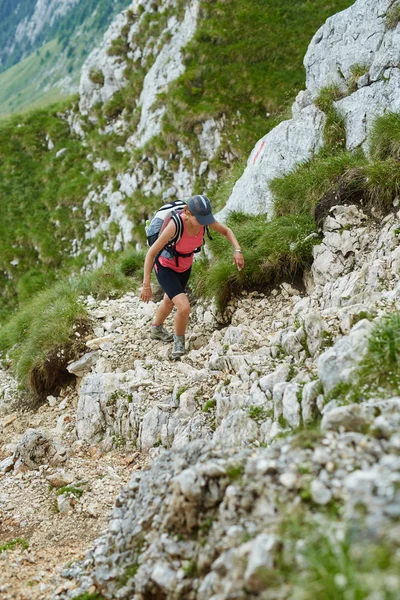
[[[201, 246], [199, 248], [196, 248], [196, 250], [194, 250], [193, 252], [190, 252], [189, 254], [182, 254], [176, 250], [176, 244], [179, 242], [179, 240], [181, 239], [182, 234], [183, 234], [183, 223], [182, 223], [182, 219], [180, 218], [180, 215], [181, 215], [183, 209], [185, 208], [185, 206], [186, 206], [186, 202], [184, 202], [183, 200], [175, 200], [174, 202], [169, 202], [168, 204], [163, 204], [163, 206], [161, 206], [154, 213], [151, 221], [146, 222], [146, 227], [145, 227], [146, 236], [147, 236], [147, 244], [149, 246], [152, 246], [156, 242], [156, 240], [159, 238], [160, 233], [162, 233], [164, 231], [164, 229], [167, 227], [170, 220], [171, 219], [173, 220], [173, 222], [176, 225], [176, 232], [175, 232], [174, 236], [169, 240], [168, 244], [166, 244], [164, 246], [164, 248], [161, 250], [161, 252], [166, 250], [168, 252], [168, 254], [170, 255], [170, 258], [175, 257], [177, 266], [178, 266], [179, 256], [182, 256], [182, 257], [192, 256], [193, 253], [200, 252], [200, 250], [201, 250]], [[207, 226], [205, 226], [205, 232], [207, 233], [208, 237], [210, 239], [212, 239], [209, 234]], [[161, 252], [156, 257], [156, 260], [160, 256]]]

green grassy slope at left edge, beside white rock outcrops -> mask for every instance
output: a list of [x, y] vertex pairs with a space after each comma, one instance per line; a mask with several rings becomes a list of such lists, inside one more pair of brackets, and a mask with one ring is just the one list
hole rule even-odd
[[84, 235], [82, 201], [93, 168], [60, 108], [0, 125], [0, 321], [84, 262], [71, 256], [72, 242]]

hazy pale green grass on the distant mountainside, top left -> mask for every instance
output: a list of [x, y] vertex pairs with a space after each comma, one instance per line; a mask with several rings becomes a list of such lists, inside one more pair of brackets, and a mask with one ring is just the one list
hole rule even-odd
[[[58, 101], [65, 92], [61, 92], [57, 84], [66, 76], [71, 77], [76, 87], [83, 61], [100, 42], [114, 15], [126, 6], [125, 0], [81, 0], [74, 10], [45, 23], [34, 41], [29, 36], [19, 40], [14, 51], [5, 55], [0, 67], [3, 71], [0, 73], [0, 115]], [[29, 8], [25, 9], [29, 20]], [[17, 27], [23, 17], [21, 10], [8, 11], [6, 16], [8, 20], [0, 31], [1, 47], [9, 42], [10, 31], [13, 31], [10, 28]], [[21, 56], [26, 58], [21, 60]]]

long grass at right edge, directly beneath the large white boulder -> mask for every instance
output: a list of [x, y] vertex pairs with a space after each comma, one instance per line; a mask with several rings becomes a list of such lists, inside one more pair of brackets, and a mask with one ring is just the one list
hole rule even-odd
[[332, 151], [328, 144], [309, 162], [270, 183], [275, 214], [311, 214], [320, 208], [322, 218], [333, 204], [359, 204], [362, 199], [367, 209], [387, 212], [400, 192], [399, 140], [400, 116], [388, 113], [372, 127], [370, 160], [361, 150], [339, 146]]

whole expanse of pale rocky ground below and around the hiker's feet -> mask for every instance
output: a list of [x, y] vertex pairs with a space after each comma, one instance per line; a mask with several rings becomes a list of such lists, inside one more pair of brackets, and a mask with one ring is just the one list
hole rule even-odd
[[[69, 366], [75, 389], [10, 412], [4, 375], [1, 542], [29, 542], [0, 555], [5, 597], [308, 600], [312, 531], [336, 556], [351, 523], [354, 556], [380, 544], [387, 569], [368, 579], [372, 558], [360, 579], [342, 548], [335, 599], [343, 577], [355, 597], [395, 598], [400, 401], [338, 389], [398, 310], [398, 223], [334, 208], [306, 291], [243, 294], [225, 321], [194, 302], [179, 362], [149, 338], [155, 304], [130, 293], [84, 299], [93, 334]], [[295, 515], [301, 534], [285, 529]], [[284, 575], [298, 570], [303, 587]]]

